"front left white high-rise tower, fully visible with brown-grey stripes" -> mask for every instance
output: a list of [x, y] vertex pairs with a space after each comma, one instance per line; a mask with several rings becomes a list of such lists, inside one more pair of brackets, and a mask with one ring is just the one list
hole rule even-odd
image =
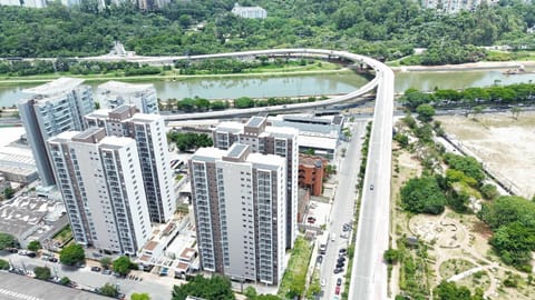
[[75, 240], [136, 254], [150, 236], [136, 141], [90, 128], [62, 132], [48, 148]]

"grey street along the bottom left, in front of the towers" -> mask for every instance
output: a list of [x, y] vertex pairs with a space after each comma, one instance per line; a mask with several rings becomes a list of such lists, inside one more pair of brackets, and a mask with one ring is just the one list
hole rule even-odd
[[[119, 291], [129, 296], [134, 292], [148, 292], [153, 299], [169, 299], [173, 284], [178, 284], [179, 281], [171, 277], [159, 278], [155, 274], [144, 273], [140, 271], [134, 272], [138, 277], [145, 278], [143, 281], [115, 278], [113, 276], [105, 276], [99, 272], [90, 271], [90, 267], [77, 269], [61, 266], [59, 263], [43, 261], [39, 258], [29, 258], [19, 254], [10, 254], [0, 252], [0, 258], [10, 261], [12, 266], [18, 268], [26, 268], [31, 271], [35, 267], [50, 268], [52, 276], [68, 277], [70, 280], [78, 283], [84, 289], [100, 288], [105, 283], [117, 284]], [[1, 297], [0, 297], [1, 299]]]

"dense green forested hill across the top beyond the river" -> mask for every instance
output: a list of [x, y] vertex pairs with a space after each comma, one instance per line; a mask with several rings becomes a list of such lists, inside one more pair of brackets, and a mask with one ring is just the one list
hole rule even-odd
[[502, 1], [455, 16], [422, 10], [416, 0], [240, 2], [261, 4], [268, 10], [264, 20], [232, 16], [235, 1], [176, 0], [155, 12], [132, 6], [101, 12], [90, 4], [79, 9], [0, 7], [0, 57], [103, 54], [114, 40], [138, 54], [315, 47], [396, 59], [415, 47], [463, 50], [465, 44], [507, 43], [535, 48], [534, 34], [526, 33], [535, 24], [534, 1]]

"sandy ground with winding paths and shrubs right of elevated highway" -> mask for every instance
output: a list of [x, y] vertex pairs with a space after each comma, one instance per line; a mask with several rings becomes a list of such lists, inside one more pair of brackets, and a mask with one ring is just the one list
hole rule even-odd
[[[418, 237], [421, 242], [429, 246], [427, 266], [424, 268], [427, 271], [424, 272], [425, 278], [421, 278], [429, 283], [428, 288], [432, 289], [440, 280], [450, 279], [471, 291], [480, 288], [485, 296], [493, 300], [533, 299], [535, 284], [528, 283], [526, 273], [503, 264], [490, 251], [488, 239], [492, 232], [476, 216], [459, 214], [449, 209], [439, 216], [411, 216], [399, 208], [400, 187], [407, 179], [419, 176], [421, 166], [412, 153], [400, 150], [396, 143], [393, 149], [392, 240]], [[415, 254], [415, 250], [411, 253]], [[402, 266], [392, 268], [391, 296], [402, 292], [400, 291]], [[504, 284], [510, 277], [517, 277], [516, 288]]]

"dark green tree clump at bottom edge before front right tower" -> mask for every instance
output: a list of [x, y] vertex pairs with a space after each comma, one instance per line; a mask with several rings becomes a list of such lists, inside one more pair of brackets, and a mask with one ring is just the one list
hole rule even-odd
[[185, 300], [187, 296], [200, 297], [206, 300], [235, 299], [231, 280], [218, 274], [214, 274], [210, 279], [196, 276], [186, 284], [173, 287], [173, 300]]

